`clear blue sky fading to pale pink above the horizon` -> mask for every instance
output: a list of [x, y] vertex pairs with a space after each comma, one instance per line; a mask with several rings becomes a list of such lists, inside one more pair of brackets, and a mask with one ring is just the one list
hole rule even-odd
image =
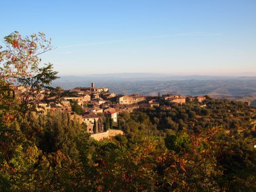
[[0, 38], [44, 32], [60, 75], [256, 75], [255, 0], [1, 0]]

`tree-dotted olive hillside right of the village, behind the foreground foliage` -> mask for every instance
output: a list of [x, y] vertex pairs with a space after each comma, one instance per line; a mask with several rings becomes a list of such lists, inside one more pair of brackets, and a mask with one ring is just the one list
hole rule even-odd
[[207, 97], [203, 103], [187, 102], [183, 105], [163, 101], [166, 107], [141, 109], [150, 118], [150, 122], [160, 130], [187, 130], [199, 133], [203, 129], [222, 127], [238, 133], [250, 132], [256, 120], [256, 110], [243, 102], [215, 100]]

